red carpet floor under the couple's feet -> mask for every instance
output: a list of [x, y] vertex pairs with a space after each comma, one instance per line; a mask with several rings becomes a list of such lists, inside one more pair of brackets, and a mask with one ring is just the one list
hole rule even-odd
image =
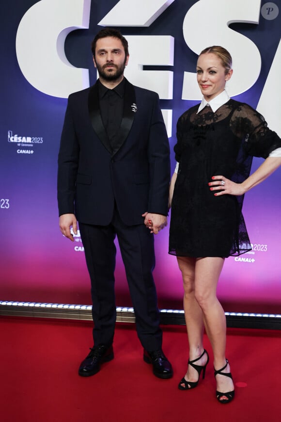
[[206, 377], [190, 391], [177, 384], [187, 366], [184, 326], [164, 326], [163, 349], [174, 376], [156, 378], [142, 360], [133, 324], [117, 324], [115, 358], [89, 378], [78, 365], [91, 344], [90, 322], [0, 319], [1, 422], [279, 422], [281, 332], [228, 329], [235, 398], [215, 398], [211, 348]]

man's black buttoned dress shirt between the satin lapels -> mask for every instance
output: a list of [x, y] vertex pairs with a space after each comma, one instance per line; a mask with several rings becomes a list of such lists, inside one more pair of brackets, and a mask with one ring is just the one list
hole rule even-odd
[[98, 92], [101, 119], [110, 144], [114, 146], [123, 117], [125, 79], [113, 89], [109, 89], [99, 82]]

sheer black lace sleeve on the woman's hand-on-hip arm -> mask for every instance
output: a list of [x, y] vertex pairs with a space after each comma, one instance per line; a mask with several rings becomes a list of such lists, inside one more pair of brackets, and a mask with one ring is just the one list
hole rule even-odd
[[231, 130], [240, 139], [245, 139], [244, 148], [248, 155], [267, 158], [281, 147], [281, 139], [267, 127], [264, 117], [247, 104], [241, 103], [234, 111]]

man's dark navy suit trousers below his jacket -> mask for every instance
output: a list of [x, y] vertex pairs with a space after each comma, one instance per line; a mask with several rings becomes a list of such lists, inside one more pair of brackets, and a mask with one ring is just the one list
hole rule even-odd
[[114, 270], [117, 235], [142, 346], [153, 351], [162, 347], [156, 288], [154, 235], [142, 225], [126, 226], [117, 208], [109, 226], [79, 223], [86, 263], [91, 278], [93, 337], [95, 345], [113, 342], [116, 321]]

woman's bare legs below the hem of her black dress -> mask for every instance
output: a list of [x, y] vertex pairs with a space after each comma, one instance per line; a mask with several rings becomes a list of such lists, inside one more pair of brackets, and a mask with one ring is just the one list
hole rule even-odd
[[[177, 257], [184, 282], [184, 309], [189, 342], [189, 359], [203, 353], [203, 325], [214, 353], [214, 367], [218, 370], [225, 363], [226, 321], [224, 310], [217, 298], [217, 285], [224, 259]], [[203, 366], [207, 356], [196, 364]], [[230, 372], [229, 365], [224, 372]], [[198, 373], [190, 365], [185, 375], [187, 381], [197, 381]], [[234, 389], [231, 378], [216, 376], [217, 390], [227, 392]], [[221, 400], [225, 396], [221, 397]]]

